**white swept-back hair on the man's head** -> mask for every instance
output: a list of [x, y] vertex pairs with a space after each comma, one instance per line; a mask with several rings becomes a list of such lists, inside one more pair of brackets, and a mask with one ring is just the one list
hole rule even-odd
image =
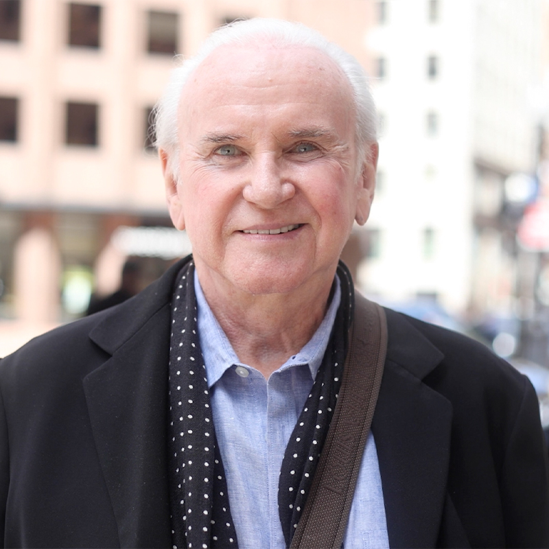
[[189, 76], [218, 47], [229, 44], [249, 45], [258, 39], [268, 40], [275, 47], [313, 47], [331, 58], [351, 84], [360, 163], [368, 152], [366, 143], [376, 141], [377, 117], [369, 80], [354, 56], [302, 23], [263, 18], [235, 21], [212, 32], [194, 57], [183, 60], [181, 65], [172, 70], [166, 89], [154, 107], [155, 145], [167, 154], [167, 172], [176, 180], [179, 175], [179, 103]]

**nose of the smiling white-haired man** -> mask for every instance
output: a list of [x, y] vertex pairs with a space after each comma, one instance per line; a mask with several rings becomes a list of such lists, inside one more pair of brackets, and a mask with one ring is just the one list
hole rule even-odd
[[253, 161], [250, 180], [242, 192], [244, 200], [263, 209], [273, 209], [295, 194], [295, 187], [281, 173], [274, 154], [264, 153]]

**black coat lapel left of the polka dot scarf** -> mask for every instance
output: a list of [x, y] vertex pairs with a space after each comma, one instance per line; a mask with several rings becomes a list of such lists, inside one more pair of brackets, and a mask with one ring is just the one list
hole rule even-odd
[[113, 309], [90, 334], [111, 355], [83, 385], [121, 547], [171, 546], [167, 366], [180, 268]]

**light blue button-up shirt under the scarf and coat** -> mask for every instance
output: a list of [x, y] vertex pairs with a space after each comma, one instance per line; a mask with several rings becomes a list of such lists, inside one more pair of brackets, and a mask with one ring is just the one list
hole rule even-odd
[[[240, 549], [285, 549], [279, 475], [286, 446], [312, 388], [340, 304], [336, 291], [312, 339], [269, 379], [242, 364], [194, 279], [198, 334], [204, 355], [215, 434], [225, 469]], [[388, 548], [381, 476], [373, 435], [366, 443], [344, 548]]]

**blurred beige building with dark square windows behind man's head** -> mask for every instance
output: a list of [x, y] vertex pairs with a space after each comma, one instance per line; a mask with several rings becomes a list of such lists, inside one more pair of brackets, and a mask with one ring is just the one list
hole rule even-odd
[[0, 318], [74, 318], [92, 284], [115, 290], [127, 255], [144, 284], [189, 250], [167, 229], [148, 136], [174, 52], [194, 54], [227, 21], [272, 16], [316, 27], [367, 65], [372, 10], [364, 0], [1, 0]]

